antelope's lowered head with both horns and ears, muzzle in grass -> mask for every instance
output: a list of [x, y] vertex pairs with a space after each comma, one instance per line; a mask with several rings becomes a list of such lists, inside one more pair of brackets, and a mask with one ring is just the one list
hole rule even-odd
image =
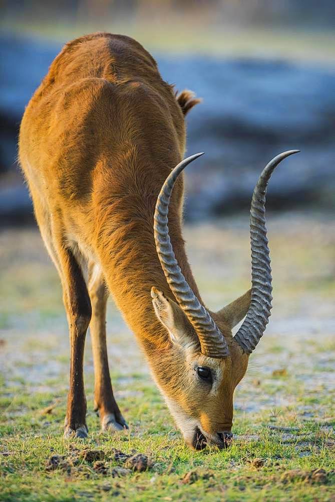
[[[243, 378], [271, 309], [271, 268], [265, 226], [265, 194], [269, 178], [291, 150], [275, 157], [262, 171], [250, 209], [252, 287], [243, 296], [210, 312], [188, 285], [175, 258], [169, 236], [168, 210], [174, 183], [200, 154], [178, 164], [157, 199], [154, 235], [158, 257], [176, 301], [152, 288], [156, 316], [168, 331], [168, 369], [158, 385], [185, 441], [195, 449], [207, 444], [225, 448], [232, 440], [233, 393]], [[232, 328], [244, 322], [232, 336]]]

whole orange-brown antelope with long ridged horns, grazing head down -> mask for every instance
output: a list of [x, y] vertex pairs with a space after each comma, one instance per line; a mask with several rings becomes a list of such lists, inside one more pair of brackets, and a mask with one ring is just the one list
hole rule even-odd
[[88, 327], [102, 430], [128, 428], [108, 366], [111, 294], [186, 443], [222, 449], [231, 442], [234, 389], [271, 309], [266, 186], [279, 162], [297, 151], [275, 157], [253, 192], [252, 288], [211, 312], [193, 278], [181, 229], [182, 171], [202, 155], [182, 160], [185, 115], [199, 101], [188, 90], [177, 94], [135, 40], [96, 33], [64, 46], [25, 110], [20, 163], [61, 279], [70, 331], [66, 438], [88, 435]]

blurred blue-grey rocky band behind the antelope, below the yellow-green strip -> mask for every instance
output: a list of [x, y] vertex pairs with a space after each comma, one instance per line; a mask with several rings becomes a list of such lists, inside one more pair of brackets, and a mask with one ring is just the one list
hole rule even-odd
[[[61, 45], [0, 37], [0, 172], [14, 169], [17, 133], [30, 97]], [[206, 155], [187, 171], [186, 216], [247, 210], [258, 174], [284, 150], [269, 186], [270, 208], [335, 205], [335, 72], [258, 59], [158, 56], [164, 79], [203, 98], [188, 118], [188, 153]], [[32, 215], [27, 189], [0, 188], [0, 218]]]

